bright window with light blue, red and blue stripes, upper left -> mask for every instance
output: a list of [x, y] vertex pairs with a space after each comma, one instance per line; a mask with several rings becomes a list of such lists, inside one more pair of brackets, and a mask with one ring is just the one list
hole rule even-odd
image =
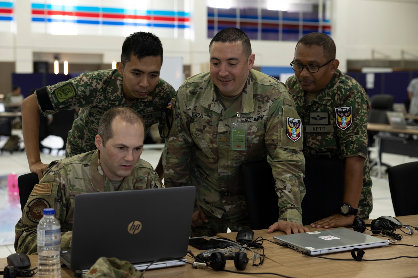
[[148, 31], [165, 38], [190, 36], [187, 0], [32, 0], [33, 33], [115, 35]]

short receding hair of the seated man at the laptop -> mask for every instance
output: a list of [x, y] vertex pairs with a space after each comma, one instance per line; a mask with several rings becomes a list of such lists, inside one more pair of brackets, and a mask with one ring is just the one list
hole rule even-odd
[[144, 122], [141, 116], [132, 108], [116, 107], [107, 110], [100, 119], [99, 128], [97, 130], [97, 134], [102, 138], [103, 147], [106, 145], [107, 141], [113, 137], [112, 123], [116, 118], [120, 118], [130, 125], [140, 123], [142, 128], [144, 128]]

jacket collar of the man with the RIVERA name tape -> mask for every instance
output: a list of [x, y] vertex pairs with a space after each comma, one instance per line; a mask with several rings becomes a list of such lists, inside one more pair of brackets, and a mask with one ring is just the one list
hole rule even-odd
[[229, 107], [226, 111], [220, 100], [217, 100], [216, 97], [216, 85], [211, 80], [206, 87], [206, 90], [203, 94], [203, 97], [200, 100], [200, 105], [208, 108], [216, 113], [222, 114], [222, 118], [229, 118], [236, 116], [237, 112], [240, 113], [250, 113], [254, 111], [254, 101], [252, 97], [253, 93], [253, 83], [254, 79], [252, 78], [251, 71], [248, 74], [247, 83], [242, 90], [241, 97], [237, 98], [235, 102]]

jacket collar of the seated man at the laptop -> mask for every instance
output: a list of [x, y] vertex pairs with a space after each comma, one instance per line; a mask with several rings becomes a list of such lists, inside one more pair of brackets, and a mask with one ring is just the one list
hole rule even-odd
[[[122, 184], [120, 185], [120, 190], [126, 187], [126, 185], [133, 183], [133, 188], [135, 188], [135, 179], [133, 179], [133, 176], [135, 175], [135, 167], [132, 170], [132, 173], [123, 178]], [[90, 162], [90, 182], [92, 183], [92, 187], [97, 190], [98, 192], [104, 192], [104, 188], [106, 183], [108, 183], [108, 186], [110, 185], [109, 178], [106, 177], [103, 173], [102, 164], [100, 163], [99, 158], [99, 150], [95, 150], [92, 153], [92, 160]]]

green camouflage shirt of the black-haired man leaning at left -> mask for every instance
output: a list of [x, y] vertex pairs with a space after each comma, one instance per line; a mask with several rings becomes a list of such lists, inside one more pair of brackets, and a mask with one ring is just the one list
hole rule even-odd
[[[145, 133], [151, 125], [159, 123], [161, 134], [167, 103], [175, 92], [170, 84], [160, 78], [147, 97], [135, 100], [131, 108], [142, 115]], [[122, 91], [122, 76], [117, 70], [82, 73], [68, 81], [38, 89], [35, 95], [44, 116], [59, 110], [80, 108], [78, 118], [68, 132], [66, 157], [95, 150], [94, 138], [104, 112], [114, 107], [127, 107]]]

